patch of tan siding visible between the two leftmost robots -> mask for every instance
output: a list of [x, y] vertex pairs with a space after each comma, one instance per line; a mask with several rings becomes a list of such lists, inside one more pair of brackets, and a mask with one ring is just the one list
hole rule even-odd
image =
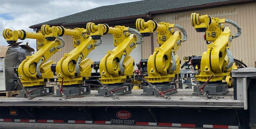
[[72, 37], [64, 35], [63, 39], [65, 41], [65, 46], [50, 58], [50, 60], [53, 60], [56, 63], [63, 57], [64, 53], [69, 53], [73, 49]]

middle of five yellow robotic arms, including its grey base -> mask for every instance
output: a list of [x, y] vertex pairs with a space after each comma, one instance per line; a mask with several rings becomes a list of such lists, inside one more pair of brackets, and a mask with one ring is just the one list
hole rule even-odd
[[[87, 23], [87, 31], [93, 39], [99, 39], [104, 34], [112, 34], [115, 48], [107, 51], [100, 61], [100, 82], [107, 84], [107, 88], [116, 95], [131, 93], [131, 85], [125, 85], [127, 78], [131, 78], [134, 71], [134, 59], [129, 56], [137, 44], [143, 42], [143, 37], [137, 41], [136, 34], [140, 33], [125, 26], [109, 27], [106, 24]], [[140, 35], [141, 36], [141, 35]], [[112, 95], [105, 88], [98, 89], [98, 95]]]

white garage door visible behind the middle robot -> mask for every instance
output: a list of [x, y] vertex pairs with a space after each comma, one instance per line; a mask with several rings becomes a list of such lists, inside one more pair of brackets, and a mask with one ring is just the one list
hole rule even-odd
[[[112, 50], [114, 48], [115, 47], [113, 46], [112, 34], [103, 35], [102, 44], [100, 46], [97, 46], [96, 49], [92, 50], [90, 54], [87, 56], [87, 58], [91, 58], [93, 61], [100, 61], [106, 55], [107, 51]], [[142, 58], [141, 44], [137, 45], [137, 47], [133, 49], [130, 56], [134, 58], [135, 64], [140, 61], [140, 59]], [[136, 65], [134, 66], [134, 70], [135, 69], [137, 69]]]

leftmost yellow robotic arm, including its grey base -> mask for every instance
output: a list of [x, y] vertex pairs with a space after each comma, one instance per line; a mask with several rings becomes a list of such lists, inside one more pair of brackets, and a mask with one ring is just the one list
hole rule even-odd
[[[56, 64], [56, 62], [48, 61], [48, 59], [65, 45], [62, 37], [47, 40], [40, 31], [31, 33], [24, 30], [12, 31], [10, 29], [3, 30], [3, 37], [11, 45], [16, 43], [18, 39], [24, 40], [29, 38], [37, 40], [37, 52], [27, 56], [19, 64], [19, 68], [16, 71], [18, 71], [20, 82], [25, 89], [36, 89], [29, 93], [31, 97], [53, 94], [53, 87], [45, 86], [46, 82], [53, 78], [50, 67], [52, 64]], [[25, 91], [21, 91], [20, 97], [25, 97]]]

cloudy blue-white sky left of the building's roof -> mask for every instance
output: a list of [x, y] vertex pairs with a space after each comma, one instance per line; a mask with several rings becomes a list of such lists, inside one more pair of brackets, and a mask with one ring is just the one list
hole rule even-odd
[[[82, 12], [99, 6], [140, 0], [0, 0], [0, 46], [7, 46], [2, 36], [3, 29], [25, 30], [41, 22]], [[20, 41], [20, 40], [19, 40]], [[36, 49], [36, 40], [25, 39]]]

